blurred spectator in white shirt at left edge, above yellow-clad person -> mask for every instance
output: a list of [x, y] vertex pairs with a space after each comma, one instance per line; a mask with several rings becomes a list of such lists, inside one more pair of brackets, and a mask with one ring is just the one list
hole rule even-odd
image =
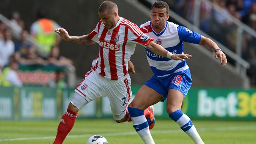
[[4, 38], [0, 39], [0, 69], [9, 63], [9, 57], [14, 54], [12, 33], [9, 29], [4, 30]]

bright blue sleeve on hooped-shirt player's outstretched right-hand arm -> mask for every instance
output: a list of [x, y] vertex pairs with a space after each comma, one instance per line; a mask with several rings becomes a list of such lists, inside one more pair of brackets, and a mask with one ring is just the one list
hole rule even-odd
[[201, 40], [200, 34], [193, 32], [184, 26], [178, 26], [177, 29], [178, 29], [180, 42], [184, 41], [184, 42], [189, 42], [193, 44], [199, 44]]

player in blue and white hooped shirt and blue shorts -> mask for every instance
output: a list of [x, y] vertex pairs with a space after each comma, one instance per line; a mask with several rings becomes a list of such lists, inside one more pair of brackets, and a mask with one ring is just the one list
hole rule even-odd
[[[184, 26], [168, 22], [168, 10], [166, 2], [155, 2], [152, 6], [151, 21], [140, 26], [142, 32], [173, 54], [183, 54], [183, 41], [200, 44], [215, 51], [215, 58], [220, 58], [221, 66], [226, 65], [226, 56], [215, 42]], [[192, 84], [186, 60], [164, 58], [148, 49], [146, 55], [154, 76], [144, 83], [128, 106], [135, 130], [145, 144], [154, 144], [143, 112], [148, 106], [167, 99], [166, 110], [169, 117], [180, 125], [195, 144], [204, 144], [190, 118], [181, 111], [183, 99]], [[132, 65], [131, 62], [129, 64]], [[130, 67], [134, 68], [133, 65]]]

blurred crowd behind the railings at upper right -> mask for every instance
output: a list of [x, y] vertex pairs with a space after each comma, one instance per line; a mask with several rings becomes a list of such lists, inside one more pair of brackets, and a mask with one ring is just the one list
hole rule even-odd
[[[200, 7], [200, 29], [218, 40], [230, 50], [236, 52], [237, 26], [230, 20], [229, 14], [256, 30], [256, 0], [211, 0], [221, 11], [202, 2]], [[186, 20], [193, 22], [195, 0], [167, 0], [170, 8]], [[226, 34], [226, 35], [225, 35]], [[256, 40], [244, 34], [242, 58], [250, 61], [256, 58]]]

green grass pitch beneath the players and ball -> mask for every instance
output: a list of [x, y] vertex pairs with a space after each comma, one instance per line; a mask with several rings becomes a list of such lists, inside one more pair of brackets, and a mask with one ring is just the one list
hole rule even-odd
[[[0, 121], [0, 144], [52, 144], [59, 121]], [[256, 144], [256, 121], [193, 120], [205, 144]], [[174, 121], [156, 120], [151, 130], [156, 144], [193, 144]], [[76, 120], [64, 144], [86, 144], [101, 134], [109, 144], [143, 144], [131, 122], [110, 119]], [[17, 140], [20, 138], [20, 140]]]

